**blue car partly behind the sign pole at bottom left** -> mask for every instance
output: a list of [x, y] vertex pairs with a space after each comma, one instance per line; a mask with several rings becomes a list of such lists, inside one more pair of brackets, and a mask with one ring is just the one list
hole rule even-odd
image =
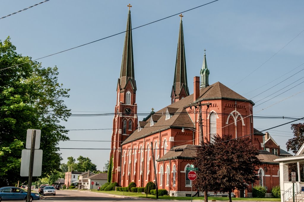
[[[0, 201], [2, 200], [26, 200], [27, 192], [15, 186], [5, 186], [0, 188]], [[31, 200], [39, 200], [38, 193], [31, 193]]]

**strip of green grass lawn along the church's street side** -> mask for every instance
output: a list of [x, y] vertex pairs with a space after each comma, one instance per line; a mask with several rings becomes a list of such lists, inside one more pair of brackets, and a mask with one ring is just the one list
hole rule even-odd
[[[132, 196], [132, 197], [141, 197], [146, 198], [146, 194], [141, 193], [132, 193], [132, 192], [122, 192], [122, 191], [97, 191], [93, 190], [93, 192], [101, 192], [115, 195], [123, 195], [123, 196]], [[148, 198], [156, 199], [156, 196], [148, 194]], [[191, 197], [170, 197], [170, 196], [159, 196], [159, 199], [166, 200], [191, 200]], [[192, 200], [204, 200], [204, 197], [192, 197]], [[229, 201], [229, 197], [208, 197], [208, 200], [227, 200]], [[232, 198], [232, 200], [248, 200], [248, 201], [281, 201], [279, 198]]]

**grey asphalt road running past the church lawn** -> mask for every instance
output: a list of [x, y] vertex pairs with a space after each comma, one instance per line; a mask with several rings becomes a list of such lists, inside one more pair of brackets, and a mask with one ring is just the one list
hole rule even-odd
[[[123, 196], [113, 197], [104, 193], [96, 193], [96, 192], [86, 192], [86, 191], [78, 191], [78, 190], [56, 190], [56, 196], [43, 196], [37, 202], [67, 202], [67, 201], [134, 201], [136, 202], [147, 202], [151, 201], [151, 199], [138, 199], [138, 198], [123, 198]], [[152, 200], [153, 201], [153, 200]], [[35, 201], [36, 202], [36, 201]]]

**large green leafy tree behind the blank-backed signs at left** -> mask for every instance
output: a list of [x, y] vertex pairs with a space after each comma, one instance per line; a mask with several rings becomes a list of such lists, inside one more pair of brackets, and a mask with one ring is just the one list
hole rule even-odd
[[0, 41], [0, 69], [0, 186], [27, 180], [20, 177], [27, 129], [41, 129], [41, 177], [60, 170], [58, 143], [68, 140], [60, 122], [67, 121], [70, 109], [64, 105], [69, 89], [58, 83], [57, 67], [43, 68], [18, 54], [8, 37]]

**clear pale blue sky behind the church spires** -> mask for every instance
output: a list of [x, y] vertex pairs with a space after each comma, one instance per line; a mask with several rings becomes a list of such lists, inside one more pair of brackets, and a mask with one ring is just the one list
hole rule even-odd
[[[0, 18], [39, 2], [42, 0], [2, 0]], [[125, 31], [129, 3], [133, 6], [134, 28], [208, 2], [211, 1], [50, 0], [0, 19], [0, 39], [3, 41], [10, 36], [18, 53], [36, 59]], [[303, 1], [219, 0], [183, 12], [190, 94], [193, 93], [193, 77], [199, 76], [202, 67], [204, 48], [210, 70], [209, 84], [219, 81], [256, 105], [301, 83], [304, 71], [283, 80], [304, 68], [304, 65], [300, 66], [304, 62], [303, 6]], [[176, 15], [133, 30], [138, 113], [150, 112], [151, 108], [157, 111], [170, 104], [179, 21], [180, 17]], [[71, 88], [70, 98], [65, 103], [72, 113], [114, 112], [123, 41], [124, 34], [120, 34], [39, 60], [44, 67], [56, 65], [59, 68], [59, 82], [65, 88]], [[283, 87], [286, 88], [269, 96]], [[303, 84], [300, 84], [254, 107], [254, 115], [303, 117], [302, 90]], [[286, 100], [281, 101], [283, 99]], [[67, 129], [110, 129], [70, 131], [71, 140], [110, 141], [112, 118], [70, 117], [62, 124]], [[139, 120], [142, 118], [139, 116]], [[254, 119], [254, 127], [262, 130], [288, 121]], [[274, 130], [268, 132], [286, 150], [286, 141], [292, 137], [290, 124]], [[67, 141], [60, 143], [59, 147], [109, 149], [110, 142]], [[62, 149], [61, 153], [63, 162], [69, 156], [89, 157], [99, 170], [109, 159], [109, 150]]]

